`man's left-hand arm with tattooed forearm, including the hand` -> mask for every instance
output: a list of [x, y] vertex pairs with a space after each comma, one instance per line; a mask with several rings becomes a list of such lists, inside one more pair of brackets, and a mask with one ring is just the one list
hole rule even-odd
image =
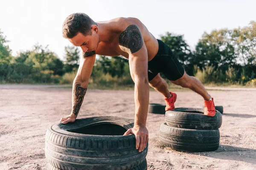
[[91, 54], [84, 53], [83, 58], [80, 60], [79, 69], [77, 71], [76, 78], [73, 81], [72, 111], [70, 115], [62, 117], [59, 122], [64, 124], [68, 122], [75, 122], [87, 91], [95, 58], [95, 52]]

